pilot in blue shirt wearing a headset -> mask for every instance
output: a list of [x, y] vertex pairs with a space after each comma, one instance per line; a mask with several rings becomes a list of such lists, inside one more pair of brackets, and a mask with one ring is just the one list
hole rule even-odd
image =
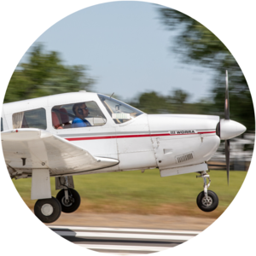
[[84, 102], [74, 104], [73, 113], [76, 117], [73, 119], [72, 128], [91, 126], [90, 122], [85, 119], [89, 114], [89, 110]]

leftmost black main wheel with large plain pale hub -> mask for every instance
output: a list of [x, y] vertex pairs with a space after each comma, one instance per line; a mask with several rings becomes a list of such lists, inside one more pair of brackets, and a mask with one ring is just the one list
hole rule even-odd
[[61, 216], [61, 204], [55, 197], [39, 199], [35, 203], [34, 212], [42, 222], [52, 223]]

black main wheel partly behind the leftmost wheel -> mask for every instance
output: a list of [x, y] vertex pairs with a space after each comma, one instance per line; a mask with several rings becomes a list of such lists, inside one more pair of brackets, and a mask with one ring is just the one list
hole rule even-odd
[[56, 199], [61, 203], [62, 212], [71, 213], [75, 212], [81, 202], [79, 193], [75, 189], [68, 189], [69, 203], [65, 203], [65, 189], [61, 189], [56, 195]]

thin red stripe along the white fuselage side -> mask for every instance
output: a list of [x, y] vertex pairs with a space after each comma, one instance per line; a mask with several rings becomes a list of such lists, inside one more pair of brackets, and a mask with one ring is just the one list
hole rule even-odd
[[86, 140], [105, 140], [113, 138], [128, 138], [128, 137], [160, 137], [160, 136], [177, 136], [177, 135], [190, 135], [190, 134], [204, 134], [204, 133], [215, 133], [215, 131], [202, 131], [197, 133], [180, 133], [180, 134], [170, 134], [170, 133], [160, 133], [160, 134], [142, 134], [142, 135], [115, 135], [115, 136], [103, 136], [103, 137], [71, 137], [66, 138], [67, 141], [86, 141]]

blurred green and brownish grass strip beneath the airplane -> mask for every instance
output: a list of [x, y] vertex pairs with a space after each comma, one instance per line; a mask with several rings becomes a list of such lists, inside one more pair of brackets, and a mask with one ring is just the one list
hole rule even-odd
[[[226, 172], [212, 171], [209, 189], [218, 195], [219, 205], [214, 212], [201, 212], [196, 197], [203, 190], [203, 179], [196, 173], [160, 177], [157, 169], [131, 172], [111, 172], [74, 176], [75, 189], [81, 196], [83, 212], [119, 212], [136, 214], [189, 215], [218, 218], [234, 200], [247, 172], [230, 172], [227, 185]], [[33, 208], [30, 200], [31, 179], [14, 180], [14, 184], [26, 205]], [[51, 177], [52, 195], [55, 178]]]

